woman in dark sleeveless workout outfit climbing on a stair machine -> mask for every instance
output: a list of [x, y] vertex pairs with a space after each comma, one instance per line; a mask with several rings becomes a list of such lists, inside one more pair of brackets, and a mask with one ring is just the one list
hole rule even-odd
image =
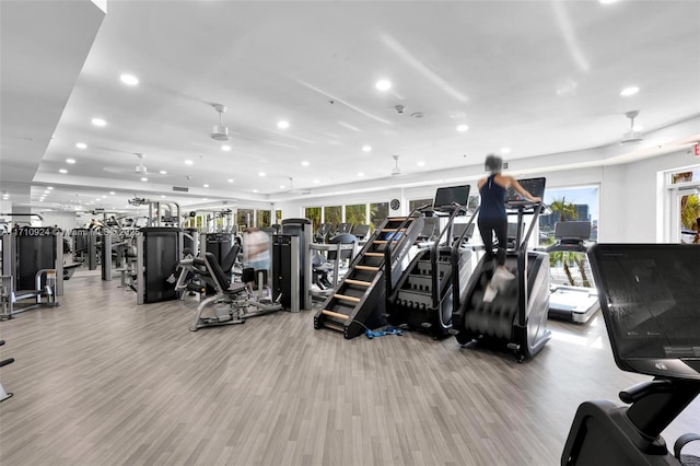
[[[490, 175], [479, 179], [477, 187], [481, 195], [481, 208], [479, 209], [479, 232], [483, 241], [487, 260], [497, 259], [497, 268], [493, 271], [491, 282], [487, 287], [485, 301], [491, 301], [497, 291], [503, 291], [510, 280], [514, 278], [505, 268], [505, 244], [508, 241], [508, 213], [505, 213], [505, 195], [511, 186], [521, 196], [533, 202], [539, 202], [539, 197], [530, 195], [512, 176], [503, 175], [503, 160], [494, 154], [489, 154], [483, 163]], [[499, 241], [498, 252], [493, 253], [493, 234]], [[490, 298], [490, 299], [488, 299]]]

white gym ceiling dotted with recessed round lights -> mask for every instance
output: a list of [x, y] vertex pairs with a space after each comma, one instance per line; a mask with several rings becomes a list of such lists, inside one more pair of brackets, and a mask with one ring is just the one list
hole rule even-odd
[[[664, 143], [700, 139], [698, 1], [109, 1], [103, 20], [88, 0], [3, 0], [0, 14], [1, 180], [16, 203], [282, 200], [290, 177], [315, 194], [390, 186], [406, 179], [395, 154], [415, 179], [503, 147], [516, 160], [617, 145], [633, 109], [645, 133], [681, 128]], [[230, 152], [209, 136], [212, 103]]]

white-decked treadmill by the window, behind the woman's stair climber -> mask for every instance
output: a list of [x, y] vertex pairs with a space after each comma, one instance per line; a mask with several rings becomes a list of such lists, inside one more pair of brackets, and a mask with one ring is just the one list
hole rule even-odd
[[[556, 243], [547, 253], [568, 252], [585, 254], [591, 237], [590, 221], [557, 222]], [[590, 279], [592, 279], [590, 277]], [[598, 292], [593, 288], [552, 284], [549, 294], [549, 317], [585, 324], [600, 308]]]

